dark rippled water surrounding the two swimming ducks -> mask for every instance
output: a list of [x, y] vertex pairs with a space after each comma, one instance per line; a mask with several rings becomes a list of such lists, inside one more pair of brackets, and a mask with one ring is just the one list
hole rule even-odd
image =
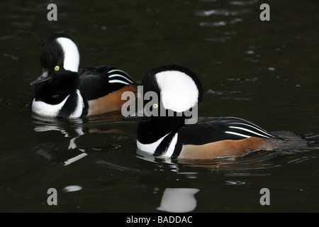
[[[196, 72], [199, 116], [237, 116], [319, 145], [318, 1], [1, 1], [0, 211], [318, 212], [319, 149], [225, 160], [138, 155], [138, 121], [121, 114], [52, 120], [30, 112], [43, 39], [72, 33], [80, 67], [113, 65], [140, 81], [152, 67]], [[57, 206], [47, 189], [57, 189]], [[269, 189], [270, 205], [259, 202]], [[171, 196], [171, 197], [169, 197]], [[169, 199], [167, 199], [169, 198]], [[169, 201], [167, 203], [167, 201]]]

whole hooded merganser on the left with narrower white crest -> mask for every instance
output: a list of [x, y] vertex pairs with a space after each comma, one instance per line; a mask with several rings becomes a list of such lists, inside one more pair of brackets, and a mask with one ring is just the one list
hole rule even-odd
[[47, 37], [40, 50], [42, 74], [35, 86], [32, 111], [45, 117], [77, 118], [121, 109], [121, 94], [136, 92], [133, 79], [110, 66], [79, 70], [79, 49], [72, 35]]

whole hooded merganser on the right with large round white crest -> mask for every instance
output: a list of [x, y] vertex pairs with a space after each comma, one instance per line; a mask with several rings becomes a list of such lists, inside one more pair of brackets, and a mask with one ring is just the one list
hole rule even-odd
[[[254, 150], [280, 148], [286, 138], [269, 133], [250, 121], [235, 117], [199, 117], [186, 124], [185, 112], [196, 108], [203, 98], [203, 87], [194, 72], [179, 65], [164, 65], [147, 72], [143, 92], [155, 92], [159, 101], [150, 109], [172, 111], [173, 115], [145, 117], [138, 124], [137, 145], [145, 153], [167, 158], [213, 159], [243, 155]], [[151, 106], [151, 105], [148, 105]]]

